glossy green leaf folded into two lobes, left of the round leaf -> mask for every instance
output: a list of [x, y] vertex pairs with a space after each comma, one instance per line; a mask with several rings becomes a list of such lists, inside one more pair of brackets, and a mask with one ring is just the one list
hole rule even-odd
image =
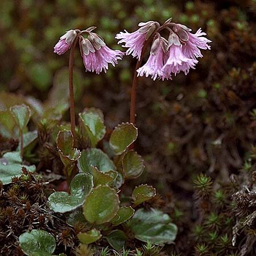
[[89, 174], [77, 174], [71, 181], [70, 191], [55, 192], [48, 197], [49, 208], [55, 212], [69, 212], [79, 208], [85, 200], [85, 196], [90, 193], [93, 187], [92, 176]]

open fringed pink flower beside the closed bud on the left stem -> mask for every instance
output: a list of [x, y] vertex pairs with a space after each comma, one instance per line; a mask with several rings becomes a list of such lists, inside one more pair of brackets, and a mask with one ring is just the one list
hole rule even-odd
[[108, 63], [115, 66], [117, 61], [122, 59], [124, 53], [110, 49], [100, 37], [97, 38], [97, 34], [94, 34], [93, 36], [94, 39], [92, 39], [91, 36], [88, 36], [92, 42], [85, 38], [82, 38], [80, 42], [81, 55], [85, 69], [86, 71], [96, 72], [97, 74], [100, 74], [102, 70], [106, 73], [108, 70]]

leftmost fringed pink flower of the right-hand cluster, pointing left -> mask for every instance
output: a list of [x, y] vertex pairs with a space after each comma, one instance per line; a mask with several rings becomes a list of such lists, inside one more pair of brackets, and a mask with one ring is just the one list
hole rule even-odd
[[122, 47], [128, 48], [126, 51], [126, 55], [133, 55], [133, 57], [137, 57], [138, 60], [141, 59], [141, 51], [144, 46], [144, 42], [152, 35], [152, 33], [159, 26], [158, 22], [149, 21], [149, 22], [141, 22], [139, 25], [141, 28], [138, 30], [129, 33], [125, 30], [125, 32], [119, 32], [115, 36], [116, 39], [121, 39], [118, 44], [123, 44]]

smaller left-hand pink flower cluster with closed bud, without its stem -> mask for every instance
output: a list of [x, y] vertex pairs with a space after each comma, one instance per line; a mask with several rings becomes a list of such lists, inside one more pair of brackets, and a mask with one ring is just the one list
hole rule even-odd
[[[69, 30], [65, 35], [60, 37], [59, 42], [54, 47], [54, 52], [61, 55], [71, 48], [75, 39], [79, 39], [80, 51], [82, 60], [84, 62], [85, 70], [89, 72], [106, 72], [108, 64], [113, 66], [117, 64], [117, 61], [122, 59], [123, 52], [110, 49], [104, 43], [104, 40], [92, 32], [96, 27], [89, 27], [84, 31]], [[87, 38], [84, 38], [82, 34], [87, 34]]]

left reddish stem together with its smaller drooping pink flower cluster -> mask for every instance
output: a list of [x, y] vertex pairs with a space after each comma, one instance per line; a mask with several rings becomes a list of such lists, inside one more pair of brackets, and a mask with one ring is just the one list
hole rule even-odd
[[[92, 32], [96, 27], [89, 27], [86, 30], [69, 30], [60, 37], [59, 42], [54, 47], [54, 52], [63, 55], [70, 49], [69, 53], [69, 109], [71, 120], [71, 132], [75, 139], [76, 116], [75, 99], [73, 88], [73, 63], [76, 44], [79, 41], [80, 52], [84, 62], [85, 70], [100, 74], [106, 73], [109, 63], [115, 66], [118, 60], [122, 59], [123, 52], [110, 49], [98, 34]], [[87, 38], [84, 38], [83, 34]]]

